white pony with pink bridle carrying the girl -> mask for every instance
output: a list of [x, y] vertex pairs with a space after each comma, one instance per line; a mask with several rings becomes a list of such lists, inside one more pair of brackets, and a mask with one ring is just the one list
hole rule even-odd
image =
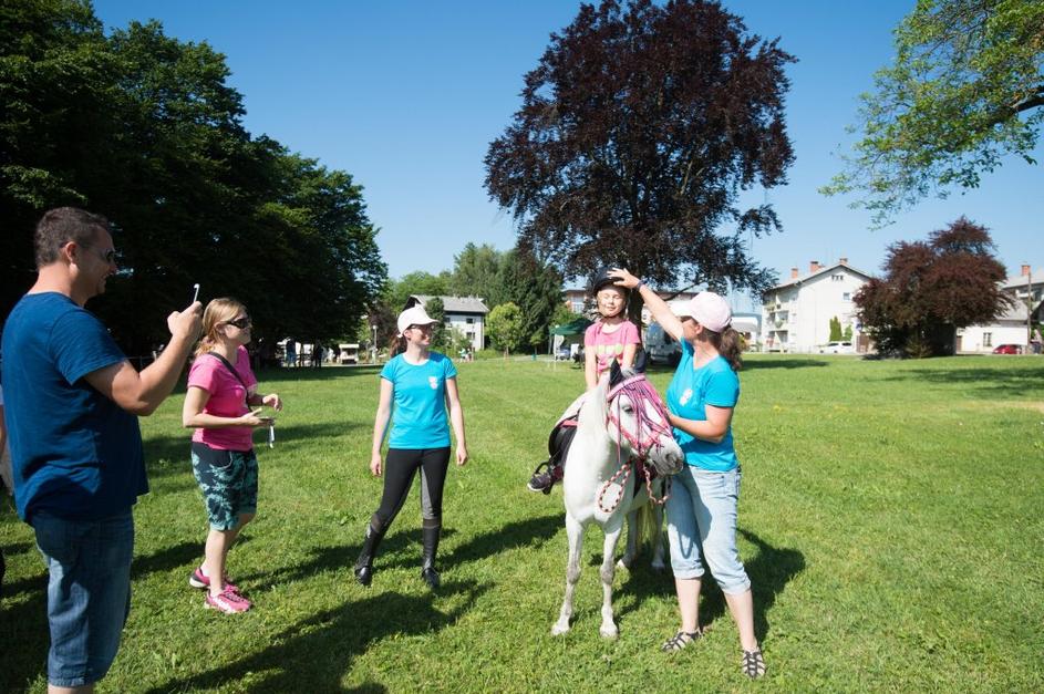
[[[613, 556], [624, 516], [628, 517], [628, 548], [620, 560], [630, 566], [638, 547], [634, 522], [638, 509], [650, 503], [650, 491], [662, 499], [664, 479], [681, 469], [684, 457], [674, 442], [666, 410], [660, 395], [634, 371], [621, 372], [613, 363], [598, 387], [585, 398], [577, 433], [566, 455], [562, 479], [566, 501], [566, 531], [569, 536], [569, 562], [566, 567], [566, 598], [555, 635], [569, 631], [572, 597], [580, 578], [580, 551], [583, 530], [591, 522], [606, 534], [600, 576], [602, 580], [602, 624], [607, 639], [619, 633], [612, 614]], [[642, 474], [642, 462], [651, 464], [660, 476], [650, 484]], [[637, 481], [641, 484], [635, 494]], [[659, 535], [660, 509], [655, 509], [654, 532]], [[653, 542], [653, 566], [663, 566], [662, 542]]]

